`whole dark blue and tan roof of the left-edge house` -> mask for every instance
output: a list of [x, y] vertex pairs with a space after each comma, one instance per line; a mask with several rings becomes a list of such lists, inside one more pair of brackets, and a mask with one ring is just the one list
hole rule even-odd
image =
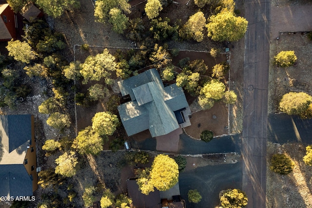
[[23, 165], [31, 125], [31, 115], [0, 115], [0, 196], [33, 195], [32, 180]]

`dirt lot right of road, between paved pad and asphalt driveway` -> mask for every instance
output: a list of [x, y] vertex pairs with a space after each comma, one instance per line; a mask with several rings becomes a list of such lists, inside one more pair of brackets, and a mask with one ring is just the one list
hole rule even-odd
[[[289, 92], [306, 92], [312, 95], [312, 41], [306, 33], [282, 34], [270, 46], [269, 113], [278, 113], [279, 102]], [[298, 65], [287, 68], [274, 65], [274, 56], [280, 51], [293, 50]]]

